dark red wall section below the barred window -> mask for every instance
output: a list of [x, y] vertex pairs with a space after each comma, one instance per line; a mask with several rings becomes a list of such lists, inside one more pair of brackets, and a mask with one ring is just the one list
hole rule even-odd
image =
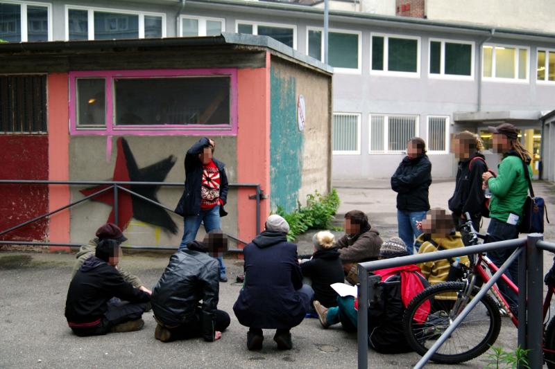
[[[48, 179], [48, 136], [0, 135], [0, 179]], [[48, 213], [48, 186], [0, 185], [0, 231]], [[2, 240], [44, 240], [48, 222], [42, 219]]]

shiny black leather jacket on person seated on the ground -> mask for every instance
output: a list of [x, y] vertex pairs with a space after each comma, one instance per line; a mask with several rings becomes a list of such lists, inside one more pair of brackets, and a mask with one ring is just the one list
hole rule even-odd
[[218, 261], [205, 253], [200, 242], [171, 255], [169, 264], [152, 291], [152, 309], [169, 327], [185, 324], [203, 300], [203, 338], [214, 341], [214, 324], [220, 282]]

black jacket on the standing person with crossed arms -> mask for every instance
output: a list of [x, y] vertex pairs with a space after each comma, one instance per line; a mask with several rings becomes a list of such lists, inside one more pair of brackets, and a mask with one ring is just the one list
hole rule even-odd
[[422, 154], [416, 159], [405, 156], [391, 177], [397, 192], [397, 208], [405, 211], [429, 210], [428, 189], [432, 184], [432, 163]]

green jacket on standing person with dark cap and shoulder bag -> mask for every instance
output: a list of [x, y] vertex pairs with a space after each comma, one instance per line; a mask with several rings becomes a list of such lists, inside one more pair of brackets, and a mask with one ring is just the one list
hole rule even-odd
[[[532, 178], [532, 168], [529, 164], [527, 168]], [[488, 187], [492, 193], [490, 217], [506, 222], [509, 214], [513, 213], [518, 215], [520, 224], [522, 207], [528, 195], [528, 181], [520, 156], [515, 156], [512, 150], [506, 152], [499, 163], [497, 177], [489, 179]]]

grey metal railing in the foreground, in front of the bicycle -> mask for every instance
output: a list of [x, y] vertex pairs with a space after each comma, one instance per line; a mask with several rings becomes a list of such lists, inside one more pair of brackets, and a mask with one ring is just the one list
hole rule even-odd
[[521, 237], [515, 240], [492, 242], [490, 244], [465, 246], [458, 249], [434, 251], [432, 253], [359, 263], [359, 289], [357, 296], [359, 299], [359, 309], [357, 312], [359, 369], [368, 368], [368, 296], [371, 296], [373, 293], [375, 284], [375, 276], [368, 276], [368, 272], [504, 249], [515, 249], [515, 252], [513, 252], [509, 259], [499, 267], [499, 270], [490, 278], [488, 283], [481, 287], [475, 298], [463, 309], [452, 325], [443, 332], [432, 348], [430, 348], [420, 361], [416, 363], [414, 368], [420, 369], [425, 366], [432, 355], [434, 355], [438, 348], [445, 343], [450, 334], [459, 326], [470, 310], [472, 310], [472, 308], [479, 303], [479, 300], [488, 293], [488, 289], [501, 278], [502, 273], [504, 273], [511, 262], [516, 260], [516, 258], [518, 258], [519, 261], [518, 345], [524, 350], [529, 350], [528, 359], [530, 367], [541, 368], [543, 365], [543, 251], [555, 253], [555, 243], [543, 241], [543, 234], [531, 233], [527, 235], [527, 237]]

